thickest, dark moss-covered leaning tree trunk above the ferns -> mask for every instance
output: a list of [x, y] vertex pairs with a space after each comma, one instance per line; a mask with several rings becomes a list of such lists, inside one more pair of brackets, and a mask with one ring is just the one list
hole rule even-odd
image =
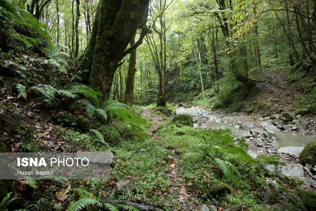
[[[89, 84], [110, 97], [111, 86], [118, 62], [141, 42], [125, 50], [137, 28], [147, 20], [149, 0], [100, 0], [93, 22], [91, 38], [78, 71], [87, 70]], [[96, 29], [97, 28], [97, 29]], [[146, 30], [144, 30], [146, 29]], [[91, 41], [95, 40], [95, 41]]]

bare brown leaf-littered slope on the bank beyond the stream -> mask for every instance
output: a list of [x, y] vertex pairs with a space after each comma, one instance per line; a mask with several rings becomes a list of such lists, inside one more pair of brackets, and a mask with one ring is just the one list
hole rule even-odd
[[258, 95], [256, 99], [272, 108], [274, 112], [294, 111], [293, 102], [299, 95], [293, 85], [288, 84], [288, 71], [277, 70], [256, 76]]

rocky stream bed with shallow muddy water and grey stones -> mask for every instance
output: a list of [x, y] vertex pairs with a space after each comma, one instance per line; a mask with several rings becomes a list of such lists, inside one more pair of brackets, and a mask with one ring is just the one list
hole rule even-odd
[[260, 114], [223, 113], [205, 110], [202, 107], [179, 107], [177, 114], [190, 114], [194, 126], [202, 129], [230, 128], [235, 141], [245, 137], [248, 154], [259, 156], [279, 155], [285, 166], [268, 165], [270, 171], [294, 177], [304, 182], [303, 187], [316, 191], [316, 166], [299, 162], [299, 154], [304, 147], [316, 141], [316, 116], [312, 118], [294, 114], [274, 114], [263, 117]]

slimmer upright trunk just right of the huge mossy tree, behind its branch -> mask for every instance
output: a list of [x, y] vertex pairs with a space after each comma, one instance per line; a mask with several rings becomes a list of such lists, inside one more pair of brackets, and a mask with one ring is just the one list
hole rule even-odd
[[[130, 46], [135, 44], [135, 35], [132, 37], [130, 41]], [[136, 50], [133, 50], [129, 55], [129, 63], [128, 63], [128, 73], [127, 73], [127, 81], [125, 87], [125, 96], [124, 102], [132, 107], [133, 105], [133, 96], [134, 96], [134, 78], [136, 72]]]

